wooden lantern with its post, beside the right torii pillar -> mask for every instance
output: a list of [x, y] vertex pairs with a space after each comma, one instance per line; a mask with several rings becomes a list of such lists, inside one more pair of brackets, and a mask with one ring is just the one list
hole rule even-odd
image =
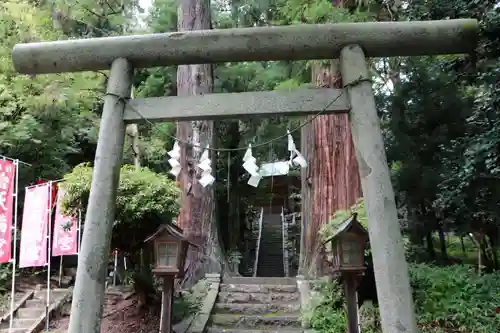
[[340, 274], [347, 303], [349, 333], [359, 333], [357, 283], [365, 271], [365, 247], [368, 232], [354, 213], [342, 222], [335, 233], [325, 241], [331, 245], [331, 268]]

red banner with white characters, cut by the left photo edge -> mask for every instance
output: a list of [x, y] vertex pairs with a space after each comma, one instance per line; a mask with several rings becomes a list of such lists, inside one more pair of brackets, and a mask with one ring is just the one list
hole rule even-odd
[[14, 202], [14, 163], [0, 160], [0, 263], [9, 262], [12, 250], [12, 212]]

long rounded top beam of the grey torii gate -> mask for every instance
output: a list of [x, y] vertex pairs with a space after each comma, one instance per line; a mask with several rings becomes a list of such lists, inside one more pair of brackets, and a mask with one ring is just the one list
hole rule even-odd
[[457, 54], [477, 40], [474, 19], [301, 24], [17, 44], [12, 58], [18, 72], [43, 74], [105, 70], [117, 58], [136, 68], [332, 59], [351, 44], [369, 57]]

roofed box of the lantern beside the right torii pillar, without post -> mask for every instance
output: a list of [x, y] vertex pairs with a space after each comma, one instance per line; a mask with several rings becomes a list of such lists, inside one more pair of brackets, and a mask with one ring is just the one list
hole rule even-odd
[[324, 244], [332, 250], [334, 272], [356, 272], [365, 270], [365, 246], [368, 232], [358, 222], [357, 214], [342, 222], [335, 233]]

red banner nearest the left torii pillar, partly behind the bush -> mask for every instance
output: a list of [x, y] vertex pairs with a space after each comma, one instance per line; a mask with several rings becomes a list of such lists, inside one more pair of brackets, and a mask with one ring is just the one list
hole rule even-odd
[[77, 219], [72, 216], [65, 216], [62, 213], [64, 193], [64, 189], [59, 187], [54, 221], [54, 240], [52, 243], [52, 255], [54, 257], [72, 255], [78, 251]]

